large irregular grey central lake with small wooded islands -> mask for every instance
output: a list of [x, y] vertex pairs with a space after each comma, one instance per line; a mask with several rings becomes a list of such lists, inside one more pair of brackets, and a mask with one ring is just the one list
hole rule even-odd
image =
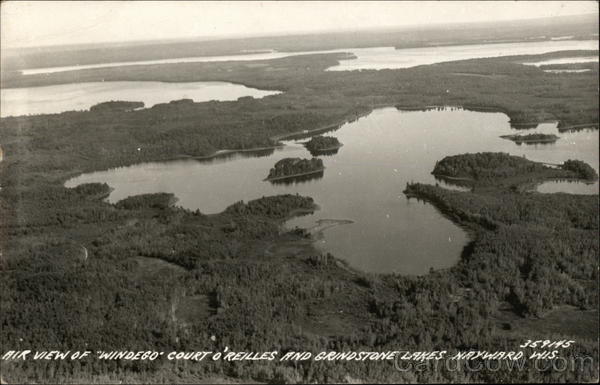
[[[239, 200], [299, 193], [313, 197], [320, 210], [289, 221], [288, 227], [308, 228], [320, 219], [354, 221], [325, 230], [317, 242], [321, 250], [364, 271], [424, 274], [432, 267], [455, 264], [468, 242], [467, 234], [433, 206], [402, 193], [407, 182], [436, 183], [430, 173], [437, 160], [465, 152], [502, 151], [550, 163], [576, 158], [598, 170], [597, 130], [560, 133], [556, 143], [544, 145], [517, 145], [499, 137], [516, 132], [502, 113], [383, 108], [328, 133], [344, 146], [337, 154], [321, 156], [326, 167], [323, 175], [295, 184], [263, 179], [282, 158], [310, 158], [303, 140], [256, 154], [94, 172], [66, 185], [106, 182], [114, 188], [111, 202], [135, 194], [171, 192], [182, 207], [204, 213], [220, 212]], [[556, 134], [556, 123], [528, 132]], [[595, 189], [597, 193], [597, 183]]]

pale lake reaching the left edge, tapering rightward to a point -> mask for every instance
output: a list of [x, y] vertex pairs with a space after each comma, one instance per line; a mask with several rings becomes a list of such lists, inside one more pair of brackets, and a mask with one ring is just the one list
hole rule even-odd
[[56, 86], [4, 88], [0, 90], [1, 116], [55, 114], [87, 110], [109, 100], [141, 101], [146, 107], [178, 99], [196, 102], [237, 100], [242, 96], [262, 98], [278, 94], [226, 82], [90, 82]]

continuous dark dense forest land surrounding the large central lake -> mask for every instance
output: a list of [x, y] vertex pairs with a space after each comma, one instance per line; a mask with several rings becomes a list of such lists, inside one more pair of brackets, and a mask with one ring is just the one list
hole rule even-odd
[[[589, 330], [598, 315], [598, 196], [505, 188], [539, 180], [540, 173], [595, 176], [581, 162], [555, 169], [502, 154], [440, 160], [438, 171], [486, 188], [407, 186], [407, 195], [434, 204], [472, 239], [457, 265], [418, 277], [354, 271], [341, 256], [314, 249], [306, 233], [282, 228], [290, 215], [315, 209], [319, 202], [309, 197], [232, 202], [205, 215], [178, 208], [170, 194], [110, 204], [103, 200], [108, 185], [64, 187], [86, 171], [272, 146], [274, 138], [341, 124], [384, 105], [503, 111], [515, 125], [598, 124], [597, 70], [553, 75], [513, 57], [323, 71], [338, 57], [79, 71], [78, 81], [222, 80], [284, 93], [1, 119], [3, 348], [495, 351], [552, 338], [576, 340], [561, 355], [589, 356], [592, 365], [539, 371], [527, 362], [518, 371], [473, 372], [399, 371], [391, 362], [370, 361], [2, 361], [3, 380], [596, 381], [597, 334]], [[483, 76], [466, 82], [465, 73]], [[66, 77], [12, 81], [53, 84]]]

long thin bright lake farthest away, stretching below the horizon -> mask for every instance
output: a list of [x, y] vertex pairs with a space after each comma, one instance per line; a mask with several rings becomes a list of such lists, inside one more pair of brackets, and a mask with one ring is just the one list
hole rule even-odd
[[365, 69], [409, 68], [418, 65], [434, 64], [446, 61], [498, 57], [511, 55], [537, 55], [565, 50], [597, 50], [598, 40], [548, 40], [519, 43], [489, 43], [469, 45], [432, 46], [420, 48], [374, 47], [374, 48], [341, 48], [325, 51], [278, 52], [269, 50], [258, 53], [242, 53], [227, 56], [197, 56], [161, 60], [143, 60], [132, 62], [99, 63], [73, 65], [64, 67], [32, 68], [22, 70], [23, 75], [64, 72], [90, 68], [120, 67], [131, 65], [251, 61], [270, 60], [289, 56], [318, 53], [349, 52], [357, 58], [342, 60], [339, 65], [329, 68], [331, 71], [349, 71]]

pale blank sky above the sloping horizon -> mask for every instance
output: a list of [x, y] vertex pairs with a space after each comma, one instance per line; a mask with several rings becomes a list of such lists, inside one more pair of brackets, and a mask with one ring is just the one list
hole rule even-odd
[[2, 48], [257, 36], [598, 13], [596, 1], [2, 1]]

